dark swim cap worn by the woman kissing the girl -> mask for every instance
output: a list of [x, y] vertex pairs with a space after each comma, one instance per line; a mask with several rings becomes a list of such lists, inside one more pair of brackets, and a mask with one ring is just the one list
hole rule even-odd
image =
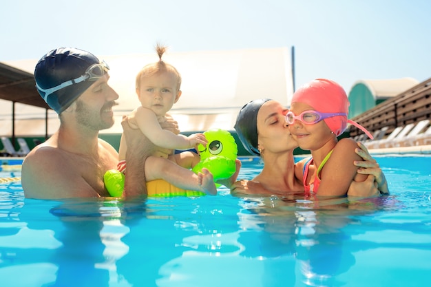
[[236, 117], [234, 128], [238, 138], [245, 149], [255, 156], [260, 156], [259, 149], [257, 149], [257, 112], [269, 100], [271, 99], [263, 98], [246, 103]]

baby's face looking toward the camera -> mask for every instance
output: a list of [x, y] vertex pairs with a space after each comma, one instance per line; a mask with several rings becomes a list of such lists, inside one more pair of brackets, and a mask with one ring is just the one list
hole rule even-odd
[[177, 83], [175, 74], [169, 72], [143, 76], [140, 89], [136, 91], [141, 105], [158, 116], [165, 116], [180, 98], [181, 92], [177, 90]]

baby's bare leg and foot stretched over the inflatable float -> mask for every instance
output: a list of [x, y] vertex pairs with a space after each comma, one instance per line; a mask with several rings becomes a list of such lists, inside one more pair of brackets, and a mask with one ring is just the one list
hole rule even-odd
[[147, 158], [145, 161], [145, 178], [147, 181], [166, 180], [180, 189], [203, 191], [209, 195], [217, 194], [213, 175], [207, 169], [205, 171], [202, 169], [202, 173], [196, 174], [166, 158], [156, 156]]

